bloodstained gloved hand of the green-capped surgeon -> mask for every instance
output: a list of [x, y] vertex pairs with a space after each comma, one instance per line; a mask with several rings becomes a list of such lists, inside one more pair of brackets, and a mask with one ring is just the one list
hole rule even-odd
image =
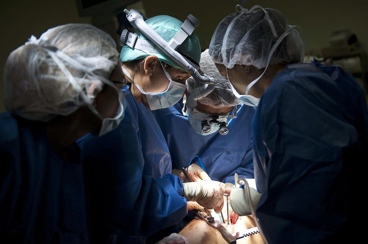
[[224, 205], [224, 194], [230, 194], [231, 188], [222, 182], [204, 181], [183, 183], [184, 197], [187, 201], [197, 201], [199, 205], [214, 209], [219, 213]]

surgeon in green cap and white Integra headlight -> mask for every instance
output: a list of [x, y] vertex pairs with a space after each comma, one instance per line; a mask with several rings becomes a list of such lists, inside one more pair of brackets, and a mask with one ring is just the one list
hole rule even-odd
[[[167, 15], [146, 23], [167, 42], [183, 24]], [[136, 35], [136, 43], [149, 41], [140, 31]], [[170, 152], [151, 110], [177, 103], [190, 74], [152, 47], [123, 46], [121, 67], [130, 85], [124, 120], [103, 137], [90, 135], [79, 142], [93, 243], [142, 243], [156, 231], [180, 222], [187, 215], [187, 201], [219, 212], [222, 195], [230, 193], [220, 182], [183, 184], [170, 174]], [[196, 35], [185, 39], [177, 51], [198, 66], [201, 52]]]

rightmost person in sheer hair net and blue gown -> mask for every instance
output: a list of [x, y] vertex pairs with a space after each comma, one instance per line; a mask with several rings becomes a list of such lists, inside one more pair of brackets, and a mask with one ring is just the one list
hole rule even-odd
[[[277, 10], [237, 6], [217, 26], [209, 53], [253, 120], [256, 187], [230, 203], [253, 214], [268, 243], [343, 243], [367, 218], [368, 113], [341, 67], [303, 64], [296, 26]], [[301, 52], [300, 52], [301, 51]], [[300, 62], [300, 63], [299, 63]]]

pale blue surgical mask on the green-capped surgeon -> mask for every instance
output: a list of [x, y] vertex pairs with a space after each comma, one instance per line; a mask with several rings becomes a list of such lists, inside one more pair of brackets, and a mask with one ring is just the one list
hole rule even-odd
[[173, 81], [169, 73], [167, 73], [166, 69], [163, 66], [162, 68], [166, 74], [167, 79], [169, 79], [170, 83], [166, 91], [156, 93], [156, 92], [145, 92], [141, 88], [141, 86], [139, 86], [137, 82], [135, 82], [132, 79], [129, 72], [123, 66], [121, 66], [121, 69], [123, 70], [124, 74], [127, 75], [127, 77], [129, 77], [133, 81], [134, 85], [137, 86], [140, 92], [146, 95], [146, 99], [149, 108], [151, 110], [164, 109], [166, 107], [171, 107], [175, 105], [183, 97], [184, 91], [185, 89], [187, 89], [186, 85]]

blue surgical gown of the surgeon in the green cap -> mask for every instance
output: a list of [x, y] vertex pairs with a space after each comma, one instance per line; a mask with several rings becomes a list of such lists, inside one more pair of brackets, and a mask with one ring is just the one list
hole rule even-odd
[[131, 92], [126, 100], [117, 129], [80, 141], [92, 238], [109, 237], [117, 228], [123, 243], [138, 242], [187, 214], [183, 183], [170, 174], [170, 153], [151, 110]]

